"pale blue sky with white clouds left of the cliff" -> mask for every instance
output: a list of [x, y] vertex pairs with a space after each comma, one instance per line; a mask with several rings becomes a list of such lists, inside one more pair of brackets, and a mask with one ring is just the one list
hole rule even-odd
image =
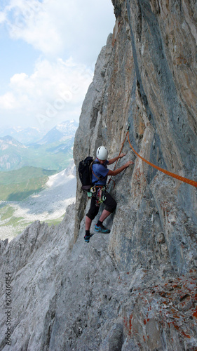
[[114, 24], [111, 0], [1, 0], [0, 127], [79, 121]]

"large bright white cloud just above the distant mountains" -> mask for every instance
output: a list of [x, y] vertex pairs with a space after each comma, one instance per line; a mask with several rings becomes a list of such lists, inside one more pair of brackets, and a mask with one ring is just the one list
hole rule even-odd
[[54, 119], [79, 119], [92, 77], [91, 68], [76, 64], [72, 58], [38, 60], [32, 75], [20, 73], [11, 77], [10, 91], [0, 96], [1, 113], [12, 109], [20, 115], [25, 111], [26, 116], [34, 116], [39, 126], [55, 124]]

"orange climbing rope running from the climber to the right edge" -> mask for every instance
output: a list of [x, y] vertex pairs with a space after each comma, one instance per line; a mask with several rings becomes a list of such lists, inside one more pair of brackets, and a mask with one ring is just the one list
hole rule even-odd
[[[152, 164], [151, 162], [147, 161], [147, 159], [144, 159], [144, 157], [140, 156], [140, 154], [138, 154], [138, 153], [134, 150], [133, 146], [132, 146], [131, 143], [130, 143], [129, 128], [130, 128], [130, 124], [128, 125], [127, 131], [126, 131], [126, 135], [125, 135], [125, 138], [124, 138], [124, 140], [123, 140], [123, 145], [124, 145], [124, 143], [125, 143], [126, 137], [128, 137], [128, 143], [129, 143], [131, 149], [133, 150], [133, 152], [134, 152], [138, 157], [140, 157], [140, 159], [142, 159], [142, 161], [144, 161], [144, 162], [146, 162], [147, 164], [149, 164], [149, 166], [158, 169], [158, 171], [161, 171], [161, 172], [163, 172], [163, 173], [165, 173], [165, 174], [168, 174], [168, 176], [170, 176], [170, 177], [172, 177], [172, 178], [175, 178], [175, 179], [181, 180], [181, 181], [184, 182], [184, 183], [193, 185], [193, 187], [197, 187], [197, 182], [195, 182], [194, 180], [191, 180], [191, 179], [188, 179], [188, 178], [184, 178], [184, 177], [182, 177], [182, 176], [178, 176], [178, 175], [175, 174], [175, 173], [166, 171], [165, 169], [156, 166], [156, 164]], [[121, 147], [121, 151], [123, 150], [123, 145], [122, 145], [122, 147]], [[120, 151], [118, 157], [120, 156], [121, 151]], [[118, 161], [118, 160], [117, 160], [117, 161]], [[116, 161], [116, 163], [117, 163], [117, 161]], [[115, 167], [116, 167], [116, 165], [115, 165]], [[114, 169], [115, 169], [115, 167], [114, 167]], [[111, 178], [109, 179], [109, 181], [110, 181], [110, 180], [111, 180]]]

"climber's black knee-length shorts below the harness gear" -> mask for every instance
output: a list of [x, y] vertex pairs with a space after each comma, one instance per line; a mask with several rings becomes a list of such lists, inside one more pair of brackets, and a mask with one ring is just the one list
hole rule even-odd
[[[102, 204], [105, 205], [105, 209], [109, 212], [114, 212], [116, 210], [116, 201], [111, 197], [109, 192], [105, 192], [105, 197], [106, 199], [103, 201]], [[90, 218], [90, 220], [93, 220], [95, 216], [97, 216], [97, 213], [99, 211], [100, 205], [97, 204], [95, 197], [92, 197], [91, 203], [90, 203], [90, 209], [86, 216]]]

